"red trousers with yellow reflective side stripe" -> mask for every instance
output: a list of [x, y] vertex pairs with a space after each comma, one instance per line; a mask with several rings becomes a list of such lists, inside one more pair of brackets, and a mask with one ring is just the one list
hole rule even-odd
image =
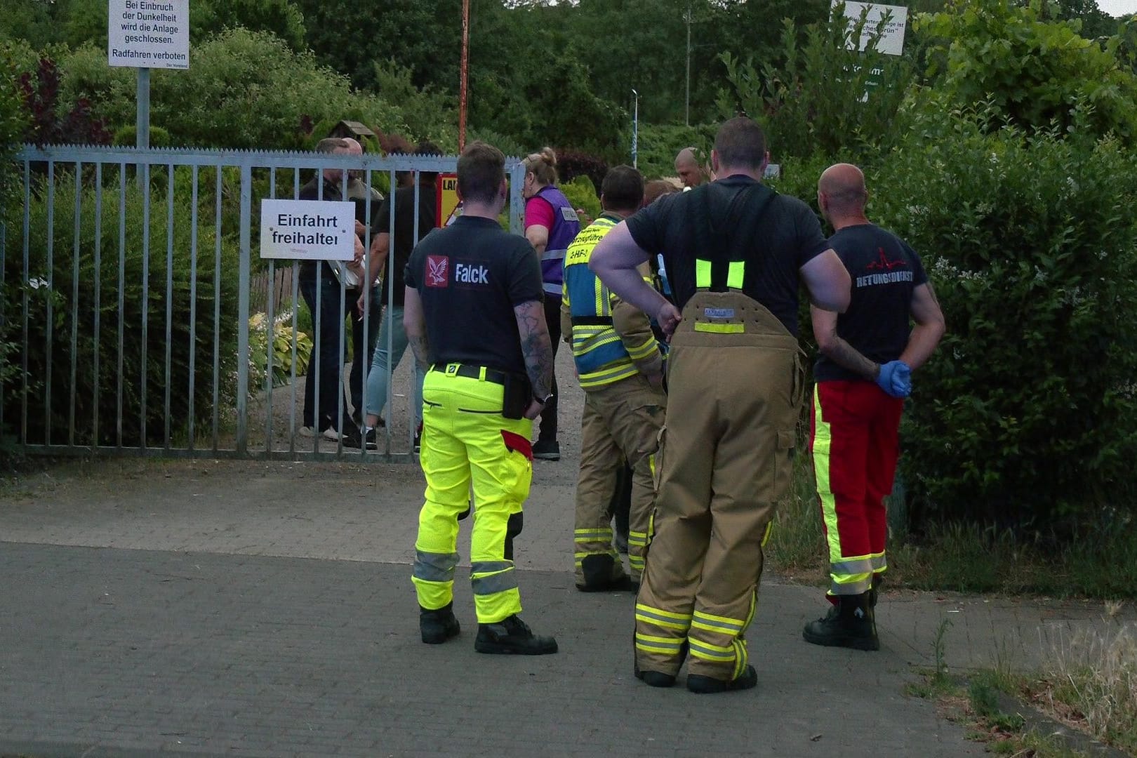
[[873, 382], [819, 382], [810, 451], [832, 585], [860, 594], [887, 568], [885, 495], [893, 491], [904, 401]]

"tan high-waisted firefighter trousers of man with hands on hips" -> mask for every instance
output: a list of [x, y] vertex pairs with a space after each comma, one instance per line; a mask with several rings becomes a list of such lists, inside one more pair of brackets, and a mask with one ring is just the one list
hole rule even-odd
[[636, 601], [640, 670], [746, 670], [762, 544], [790, 482], [797, 339], [739, 292], [699, 291], [671, 341], [654, 524]]

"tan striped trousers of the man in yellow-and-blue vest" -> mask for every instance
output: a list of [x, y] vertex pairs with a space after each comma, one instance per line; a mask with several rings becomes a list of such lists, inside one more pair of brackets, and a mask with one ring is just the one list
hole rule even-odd
[[663, 390], [639, 374], [584, 391], [573, 531], [576, 584], [597, 588], [624, 577], [620, 553], [612, 545], [609, 508], [625, 460], [632, 469], [628, 563], [632, 580], [640, 581], [666, 403]]

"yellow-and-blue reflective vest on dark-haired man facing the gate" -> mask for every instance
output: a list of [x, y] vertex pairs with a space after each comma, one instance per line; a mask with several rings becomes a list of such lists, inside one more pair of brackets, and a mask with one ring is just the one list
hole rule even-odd
[[649, 335], [630, 353], [612, 323], [615, 295], [588, 268], [592, 250], [619, 219], [600, 216], [576, 235], [568, 245], [564, 267], [564, 306], [572, 315], [572, 357], [580, 385], [589, 388], [612, 384], [639, 373], [633, 360], [645, 360], [656, 349]]

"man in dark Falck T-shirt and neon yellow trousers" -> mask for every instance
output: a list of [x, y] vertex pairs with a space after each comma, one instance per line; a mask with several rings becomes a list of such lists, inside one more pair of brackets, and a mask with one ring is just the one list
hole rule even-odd
[[470, 578], [478, 652], [557, 651], [521, 620], [521, 594], [507, 544], [521, 531], [529, 497], [533, 418], [551, 392], [553, 345], [541, 270], [529, 242], [497, 222], [506, 202], [505, 156], [474, 142], [458, 158], [463, 215], [426, 235], [410, 255], [404, 324], [423, 384], [422, 468], [412, 580], [426, 643], [459, 632], [454, 614], [458, 517], [473, 485]]

